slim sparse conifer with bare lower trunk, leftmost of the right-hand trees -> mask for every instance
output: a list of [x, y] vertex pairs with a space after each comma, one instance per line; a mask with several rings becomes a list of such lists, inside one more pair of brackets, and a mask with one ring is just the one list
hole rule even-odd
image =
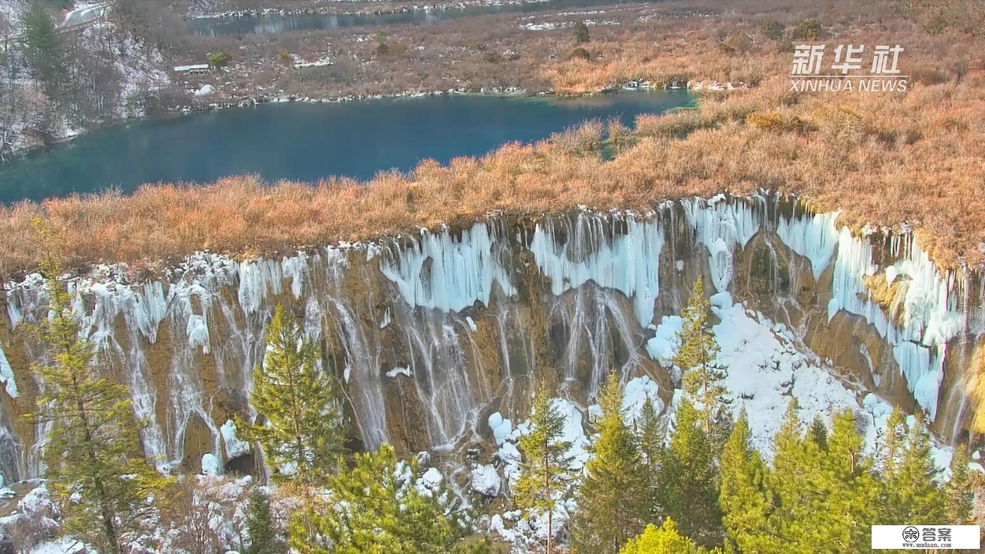
[[542, 383], [534, 399], [529, 432], [520, 438], [523, 462], [513, 486], [516, 505], [529, 517], [532, 513], [548, 514], [547, 552], [551, 554], [554, 511], [563, 500], [572, 479], [569, 468], [570, 443], [562, 441], [564, 417], [551, 403], [551, 391]]

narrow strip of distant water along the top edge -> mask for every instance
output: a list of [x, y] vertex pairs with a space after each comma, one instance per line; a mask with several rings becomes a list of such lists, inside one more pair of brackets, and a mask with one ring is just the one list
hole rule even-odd
[[284, 33], [305, 29], [334, 29], [340, 27], [384, 26], [393, 24], [427, 24], [463, 17], [502, 14], [530, 13], [550, 10], [572, 10], [590, 6], [609, 4], [629, 4], [646, 0], [553, 0], [551, 2], [529, 2], [523, 4], [500, 4], [477, 6], [465, 9], [415, 10], [397, 14], [359, 14], [359, 15], [319, 15], [319, 14], [266, 14], [259, 16], [201, 18], [188, 24], [192, 34], [201, 36], [248, 35], [253, 33]]

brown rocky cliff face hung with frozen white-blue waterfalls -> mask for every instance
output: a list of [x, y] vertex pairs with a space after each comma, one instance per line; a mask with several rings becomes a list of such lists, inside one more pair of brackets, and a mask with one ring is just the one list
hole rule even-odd
[[[494, 412], [524, 419], [535, 381], [587, 406], [609, 372], [646, 375], [668, 404], [679, 376], [653, 341], [698, 275], [782, 323], [859, 397], [919, 406], [945, 440], [966, 435], [964, 368], [985, 327], [978, 274], [939, 271], [910, 235], [858, 237], [836, 219], [771, 196], [716, 197], [646, 214], [492, 215], [281, 259], [201, 253], [141, 282], [122, 265], [67, 279], [99, 364], [130, 386], [149, 423], [143, 448], [162, 469], [198, 470], [209, 452], [256, 463], [227, 422], [256, 415], [251, 370], [278, 304], [345, 382], [354, 447], [454, 453], [490, 443]], [[45, 429], [18, 414], [43, 386], [30, 365], [45, 352], [24, 325], [46, 315], [47, 300], [38, 276], [6, 288], [0, 472], [17, 480], [42, 470]]]

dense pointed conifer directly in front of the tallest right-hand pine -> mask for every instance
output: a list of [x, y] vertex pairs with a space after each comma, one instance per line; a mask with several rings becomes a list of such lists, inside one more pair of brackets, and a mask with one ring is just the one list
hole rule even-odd
[[681, 530], [702, 544], [722, 536], [718, 470], [700, 414], [688, 397], [677, 408], [674, 434], [660, 467], [660, 505]]

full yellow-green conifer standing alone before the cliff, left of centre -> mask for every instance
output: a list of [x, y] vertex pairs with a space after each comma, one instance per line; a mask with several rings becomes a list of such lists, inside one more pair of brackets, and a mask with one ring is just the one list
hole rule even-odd
[[250, 393], [250, 404], [266, 421], [239, 426], [260, 444], [275, 480], [301, 487], [324, 482], [345, 439], [340, 391], [318, 370], [318, 356], [315, 344], [278, 306], [267, 327], [267, 356], [253, 371]]

